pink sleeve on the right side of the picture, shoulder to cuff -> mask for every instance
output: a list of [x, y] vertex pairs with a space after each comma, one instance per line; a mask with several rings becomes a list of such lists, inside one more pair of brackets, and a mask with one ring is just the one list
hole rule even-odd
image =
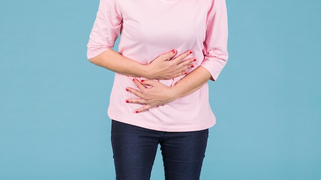
[[214, 1], [207, 17], [204, 60], [200, 64], [212, 75], [215, 81], [224, 68], [227, 59], [227, 9], [225, 0]]

